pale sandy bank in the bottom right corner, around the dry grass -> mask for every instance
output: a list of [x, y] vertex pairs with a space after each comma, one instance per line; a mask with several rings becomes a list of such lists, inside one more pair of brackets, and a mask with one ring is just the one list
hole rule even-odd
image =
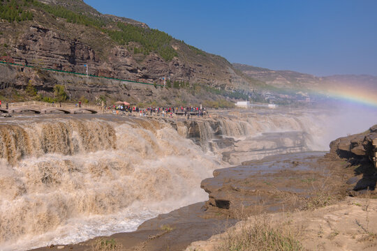
[[315, 211], [270, 213], [238, 222], [223, 234], [208, 241], [192, 243], [186, 250], [223, 250], [230, 236], [241, 235], [256, 220], [267, 219], [272, 226], [286, 225], [295, 232], [305, 250], [376, 250], [377, 199], [347, 197], [345, 200]]

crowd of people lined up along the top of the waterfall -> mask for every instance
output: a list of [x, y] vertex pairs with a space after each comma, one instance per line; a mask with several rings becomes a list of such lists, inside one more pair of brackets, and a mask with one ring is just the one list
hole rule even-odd
[[147, 107], [140, 108], [137, 106], [126, 105], [112, 105], [107, 107], [108, 111], [114, 114], [119, 112], [129, 112], [130, 114], [137, 114], [138, 116], [169, 116], [172, 118], [173, 114], [182, 116], [206, 116], [207, 109], [205, 107]]

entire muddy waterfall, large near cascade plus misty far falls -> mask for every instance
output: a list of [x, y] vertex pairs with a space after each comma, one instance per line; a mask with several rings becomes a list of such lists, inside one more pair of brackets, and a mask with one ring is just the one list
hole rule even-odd
[[[250, 159], [247, 151], [259, 158], [326, 150], [330, 118], [269, 112], [178, 123], [111, 116], [1, 121], [0, 250], [134, 231], [159, 213], [207, 199], [200, 181], [229, 165], [221, 144], [209, 148], [212, 140], [232, 137], [233, 150], [244, 147], [242, 158]], [[300, 133], [261, 143], [266, 132]]]

